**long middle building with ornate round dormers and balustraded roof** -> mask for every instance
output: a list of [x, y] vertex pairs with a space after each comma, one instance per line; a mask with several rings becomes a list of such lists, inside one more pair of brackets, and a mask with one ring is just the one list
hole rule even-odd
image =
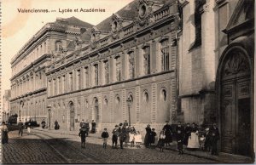
[[177, 109], [176, 31], [175, 1], [134, 1], [92, 27], [86, 46], [46, 71], [51, 122], [70, 130], [82, 119], [97, 130], [125, 120], [143, 132], [148, 123], [162, 128]]

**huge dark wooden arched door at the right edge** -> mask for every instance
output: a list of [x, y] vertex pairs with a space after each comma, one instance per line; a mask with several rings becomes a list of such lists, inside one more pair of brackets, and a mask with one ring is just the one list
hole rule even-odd
[[221, 151], [250, 156], [253, 146], [253, 77], [247, 51], [229, 47], [218, 65]]

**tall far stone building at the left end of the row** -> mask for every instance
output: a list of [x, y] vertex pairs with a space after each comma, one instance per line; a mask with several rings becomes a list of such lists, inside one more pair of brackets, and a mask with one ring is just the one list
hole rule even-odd
[[[68, 54], [77, 48], [73, 40], [91, 25], [72, 17], [57, 19], [41, 28], [11, 60], [11, 107], [22, 122], [40, 122], [47, 117], [46, 66], [52, 56]], [[69, 45], [67, 47], [67, 45]]]

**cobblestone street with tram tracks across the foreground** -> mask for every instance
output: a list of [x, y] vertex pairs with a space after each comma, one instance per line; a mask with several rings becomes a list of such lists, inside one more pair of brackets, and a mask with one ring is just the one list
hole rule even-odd
[[79, 136], [54, 134], [32, 130], [32, 134], [19, 137], [17, 131], [9, 133], [9, 144], [3, 145], [3, 163], [196, 163], [212, 160], [197, 156], [177, 155], [175, 151], [158, 149], [107, 149], [102, 139], [89, 136], [85, 148], [80, 148]]

